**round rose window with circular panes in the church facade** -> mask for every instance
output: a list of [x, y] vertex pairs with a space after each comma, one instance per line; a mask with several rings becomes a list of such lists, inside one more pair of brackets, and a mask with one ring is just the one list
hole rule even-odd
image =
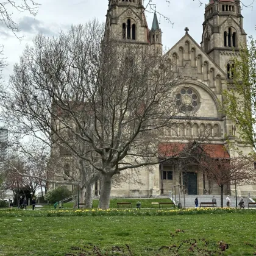
[[176, 105], [181, 111], [192, 112], [199, 107], [199, 96], [191, 88], [182, 88], [176, 94]]

